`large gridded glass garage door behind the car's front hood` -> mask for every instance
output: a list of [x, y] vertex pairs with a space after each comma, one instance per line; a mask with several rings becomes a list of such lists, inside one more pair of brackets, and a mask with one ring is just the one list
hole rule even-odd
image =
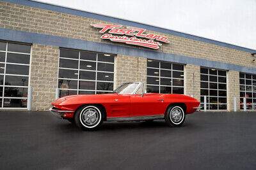
[[113, 91], [114, 55], [60, 50], [60, 97]]

